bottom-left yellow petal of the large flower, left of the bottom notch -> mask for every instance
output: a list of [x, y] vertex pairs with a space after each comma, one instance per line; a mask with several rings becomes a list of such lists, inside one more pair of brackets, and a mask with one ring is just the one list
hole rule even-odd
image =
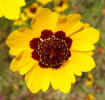
[[32, 93], [37, 93], [40, 89], [46, 91], [50, 85], [51, 70], [40, 68], [35, 64], [32, 70], [26, 74], [25, 81]]

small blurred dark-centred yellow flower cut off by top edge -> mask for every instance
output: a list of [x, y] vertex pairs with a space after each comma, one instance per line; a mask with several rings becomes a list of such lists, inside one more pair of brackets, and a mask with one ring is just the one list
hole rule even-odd
[[54, 10], [57, 12], [63, 12], [68, 8], [68, 0], [54, 0]]

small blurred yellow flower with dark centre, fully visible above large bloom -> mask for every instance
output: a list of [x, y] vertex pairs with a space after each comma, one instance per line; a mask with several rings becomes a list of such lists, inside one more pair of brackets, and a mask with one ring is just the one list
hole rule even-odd
[[28, 8], [25, 8], [25, 12], [27, 14], [27, 17], [29, 18], [33, 18], [35, 16], [35, 14], [37, 13], [37, 11], [40, 10], [40, 6], [37, 3], [33, 3], [31, 6], [29, 6]]

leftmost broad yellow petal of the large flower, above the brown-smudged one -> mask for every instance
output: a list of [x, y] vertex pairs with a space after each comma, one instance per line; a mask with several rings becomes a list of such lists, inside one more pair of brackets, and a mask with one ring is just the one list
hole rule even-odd
[[21, 28], [12, 32], [6, 40], [7, 46], [9, 46], [10, 54], [17, 55], [23, 50], [30, 48], [30, 41], [38, 34], [28, 28]]

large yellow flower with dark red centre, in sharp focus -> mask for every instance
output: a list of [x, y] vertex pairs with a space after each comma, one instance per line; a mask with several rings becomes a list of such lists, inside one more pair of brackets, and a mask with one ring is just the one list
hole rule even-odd
[[47, 8], [36, 13], [32, 29], [26, 27], [12, 32], [6, 44], [16, 56], [10, 69], [25, 75], [32, 93], [54, 89], [68, 93], [75, 76], [95, 67], [92, 58], [99, 31], [80, 22], [79, 14], [60, 16]]

